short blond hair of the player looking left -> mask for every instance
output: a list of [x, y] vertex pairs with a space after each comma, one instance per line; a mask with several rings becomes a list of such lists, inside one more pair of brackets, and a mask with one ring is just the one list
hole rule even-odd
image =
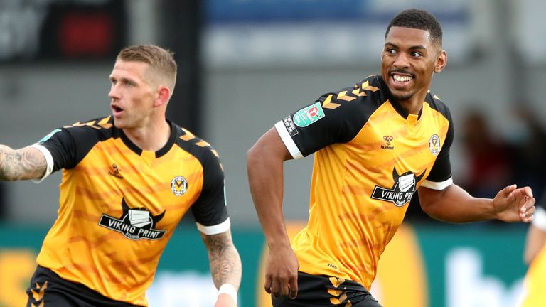
[[156, 72], [161, 79], [168, 82], [172, 95], [176, 84], [176, 61], [173, 55], [171, 50], [157, 45], [133, 45], [119, 51], [116, 59], [147, 63], [152, 72]]

